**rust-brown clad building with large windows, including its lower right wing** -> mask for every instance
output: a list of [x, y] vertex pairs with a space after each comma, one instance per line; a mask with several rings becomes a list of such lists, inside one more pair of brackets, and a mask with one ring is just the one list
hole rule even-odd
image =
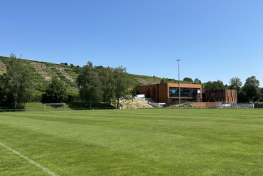
[[188, 83], [160, 83], [137, 86], [137, 94], [144, 94], [157, 103], [178, 103], [179, 89], [181, 102], [222, 102], [237, 103], [237, 90], [205, 90], [202, 85]]

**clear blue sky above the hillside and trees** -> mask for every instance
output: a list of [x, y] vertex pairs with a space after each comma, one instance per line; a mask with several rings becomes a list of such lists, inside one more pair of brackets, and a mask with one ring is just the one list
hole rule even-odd
[[263, 85], [262, 0], [0, 0], [0, 56]]

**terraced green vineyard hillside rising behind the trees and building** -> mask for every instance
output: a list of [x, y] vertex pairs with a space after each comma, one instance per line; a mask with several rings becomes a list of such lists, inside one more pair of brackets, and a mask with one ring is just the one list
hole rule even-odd
[[[6, 72], [6, 63], [9, 61], [9, 57], [0, 56], [0, 75]], [[68, 91], [71, 93], [77, 93], [77, 85], [75, 80], [80, 71], [80, 66], [74, 66], [68, 63], [48, 63], [40, 61], [31, 61], [27, 59], [21, 59], [23, 63], [28, 66], [33, 75], [34, 83], [36, 83], [36, 90], [43, 92], [45, 86], [51, 80], [53, 76], [56, 76], [62, 80], [67, 86]], [[163, 82], [176, 82], [174, 79], [158, 78], [156, 76], [141, 76], [130, 74], [134, 79], [135, 85], [150, 85]]]

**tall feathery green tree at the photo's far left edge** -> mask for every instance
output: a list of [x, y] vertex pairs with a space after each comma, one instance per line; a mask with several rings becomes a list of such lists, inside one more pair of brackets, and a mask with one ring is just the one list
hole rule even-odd
[[23, 108], [33, 95], [33, 77], [28, 67], [14, 54], [10, 55], [10, 61], [6, 64], [6, 73], [1, 77], [5, 101], [10, 105]]

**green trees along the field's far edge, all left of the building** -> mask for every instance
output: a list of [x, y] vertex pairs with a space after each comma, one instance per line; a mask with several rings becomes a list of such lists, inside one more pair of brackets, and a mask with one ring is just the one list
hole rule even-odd
[[[117, 100], [134, 90], [134, 80], [129, 76], [126, 68], [93, 66], [91, 62], [79, 68], [77, 76], [77, 88], [80, 98], [85, 102], [105, 103], [112, 105]], [[6, 73], [0, 76], [0, 106], [6, 108], [23, 108], [25, 103], [33, 98], [34, 90], [33, 76], [28, 67], [20, 58], [11, 54], [9, 63], [6, 64]], [[42, 95], [43, 103], [63, 103], [69, 101], [67, 86], [65, 83], [53, 76], [46, 86]]]

